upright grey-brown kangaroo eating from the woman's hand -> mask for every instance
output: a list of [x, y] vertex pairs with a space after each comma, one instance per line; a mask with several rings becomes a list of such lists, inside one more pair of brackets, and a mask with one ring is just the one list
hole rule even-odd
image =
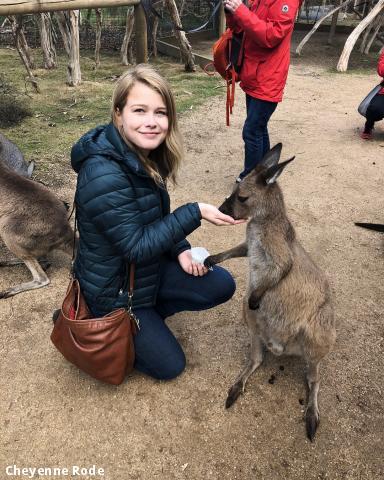
[[304, 357], [308, 365], [308, 438], [319, 424], [319, 362], [336, 339], [330, 288], [324, 273], [300, 245], [287, 218], [277, 178], [294, 159], [283, 163], [276, 145], [219, 208], [235, 219], [249, 218], [246, 241], [205, 261], [212, 266], [248, 257], [249, 284], [243, 315], [251, 337], [246, 367], [228, 392], [226, 407], [243, 393], [250, 375], [263, 360], [264, 347], [275, 355]]

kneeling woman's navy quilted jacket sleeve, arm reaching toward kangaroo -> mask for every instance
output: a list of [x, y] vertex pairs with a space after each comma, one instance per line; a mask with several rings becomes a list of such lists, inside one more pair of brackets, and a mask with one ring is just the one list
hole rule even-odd
[[197, 203], [160, 218], [155, 194], [141, 196], [117, 163], [97, 159], [87, 161], [79, 172], [76, 203], [129, 262], [145, 262], [172, 250], [200, 226]]

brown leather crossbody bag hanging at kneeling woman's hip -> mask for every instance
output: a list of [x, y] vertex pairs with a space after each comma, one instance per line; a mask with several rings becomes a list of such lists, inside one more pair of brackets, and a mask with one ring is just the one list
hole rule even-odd
[[139, 321], [132, 311], [134, 276], [131, 264], [127, 308], [99, 318], [92, 317], [79, 281], [72, 277], [51, 334], [53, 344], [69, 362], [113, 385], [123, 382], [135, 360], [133, 336]]

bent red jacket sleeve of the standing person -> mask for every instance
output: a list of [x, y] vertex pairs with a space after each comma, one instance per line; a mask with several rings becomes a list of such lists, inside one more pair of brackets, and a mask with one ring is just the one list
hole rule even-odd
[[297, 0], [276, 0], [269, 7], [268, 19], [262, 20], [241, 4], [233, 16], [248, 38], [261, 47], [274, 48], [292, 30], [297, 7]]

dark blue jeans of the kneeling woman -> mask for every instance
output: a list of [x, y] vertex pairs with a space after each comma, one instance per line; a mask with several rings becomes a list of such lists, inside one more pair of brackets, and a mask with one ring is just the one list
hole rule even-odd
[[215, 307], [229, 300], [235, 288], [224, 268], [215, 266], [203, 277], [194, 277], [177, 261], [167, 261], [162, 267], [155, 307], [135, 309], [140, 330], [134, 339], [134, 367], [161, 380], [177, 377], [185, 368], [185, 355], [165, 319], [177, 312]]

